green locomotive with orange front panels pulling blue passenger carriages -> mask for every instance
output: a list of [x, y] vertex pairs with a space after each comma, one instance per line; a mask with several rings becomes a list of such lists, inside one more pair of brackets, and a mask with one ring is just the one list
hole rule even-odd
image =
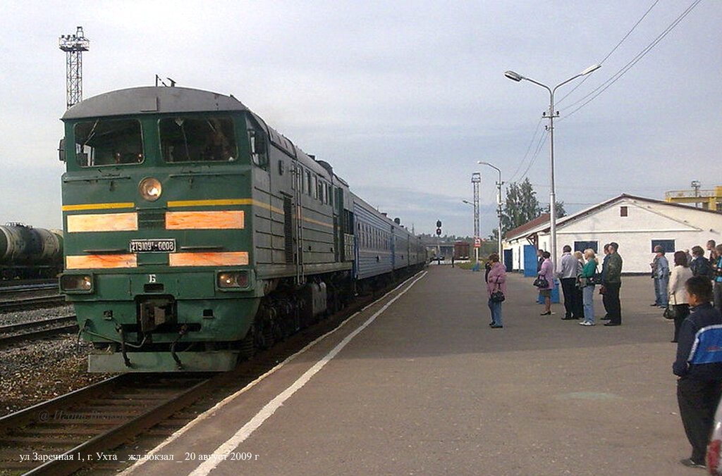
[[420, 240], [232, 96], [66, 111], [66, 270], [90, 371], [224, 371], [425, 263]]

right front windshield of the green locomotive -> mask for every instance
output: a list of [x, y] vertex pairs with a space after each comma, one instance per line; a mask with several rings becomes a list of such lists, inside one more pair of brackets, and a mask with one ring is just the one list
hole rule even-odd
[[165, 162], [232, 162], [237, 157], [230, 118], [178, 116], [158, 125]]

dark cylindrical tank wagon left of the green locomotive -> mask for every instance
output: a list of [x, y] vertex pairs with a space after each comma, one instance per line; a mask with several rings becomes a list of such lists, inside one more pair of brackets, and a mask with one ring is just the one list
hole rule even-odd
[[19, 223], [0, 225], [0, 278], [53, 278], [62, 270], [62, 232]]

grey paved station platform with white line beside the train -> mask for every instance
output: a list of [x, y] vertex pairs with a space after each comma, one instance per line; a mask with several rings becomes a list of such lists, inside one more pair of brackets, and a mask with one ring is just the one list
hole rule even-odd
[[622, 326], [584, 327], [560, 304], [539, 316], [532, 279], [509, 278], [491, 329], [483, 273], [428, 268], [150, 454], [172, 462], [123, 474], [703, 474], [679, 464], [673, 325], [651, 279], [623, 279]]

